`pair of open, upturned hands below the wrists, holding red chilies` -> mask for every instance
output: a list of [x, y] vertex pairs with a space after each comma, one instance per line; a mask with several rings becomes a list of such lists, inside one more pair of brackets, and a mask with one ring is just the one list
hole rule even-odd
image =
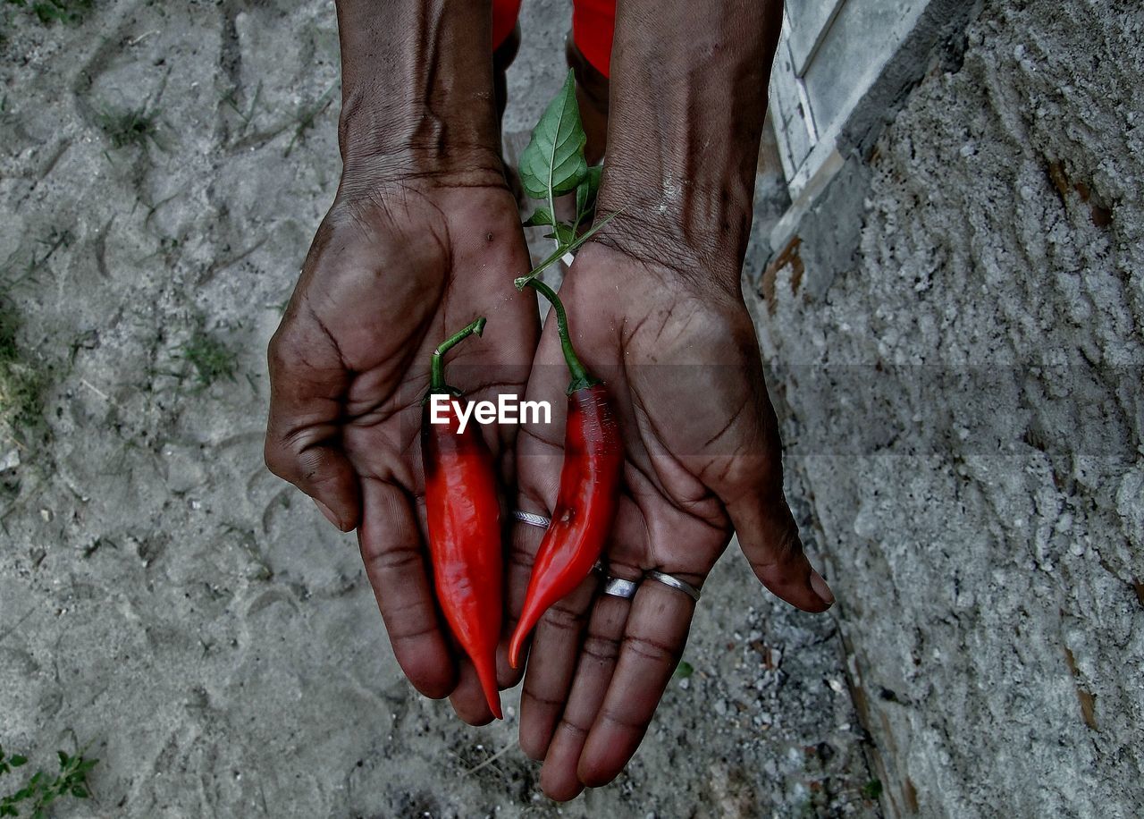
[[[603, 236], [623, 230], [620, 217]], [[561, 289], [577, 350], [605, 379], [625, 440], [607, 573], [638, 580], [658, 568], [701, 586], [734, 528], [766, 588], [824, 611], [833, 597], [803, 556], [782, 496], [774, 412], [738, 283], [732, 292], [680, 270], [682, 254], [661, 251], [650, 259], [621, 239], [588, 242]], [[541, 332], [532, 292], [513, 287], [529, 261], [502, 184], [343, 176], [270, 343], [270, 469], [340, 530], [357, 528], [402, 669], [472, 724], [492, 715], [434, 599], [420, 400], [434, 348], [486, 316], [485, 335], [451, 353], [454, 385], [474, 400], [515, 393], [550, 403], [551, 424], [482, 432], [502, 466], [508, 504], [551, 512], [567, 373], [555, 326]], [[466, 373], [495, 376], [474, 383]], [[506, 641], [541, 536], [515, 523], [507, 535]], [[521, 746], [545, 761], [549, 796], [571, 798], [622, 770], [693, 610], [690, 597], [658, 582], [643, 582], [629, 601], [599, 595], [593, 575], [545, 615], [524, 679]], [[503, 687], [519, 678], [506, 658], [502, 646]]]

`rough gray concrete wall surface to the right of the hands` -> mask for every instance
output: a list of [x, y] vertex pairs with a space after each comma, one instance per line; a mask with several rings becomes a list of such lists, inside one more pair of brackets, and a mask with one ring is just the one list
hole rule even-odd
[[1142, 37], [986, 2], [749, 260], [891, 814], [1144, 804]]

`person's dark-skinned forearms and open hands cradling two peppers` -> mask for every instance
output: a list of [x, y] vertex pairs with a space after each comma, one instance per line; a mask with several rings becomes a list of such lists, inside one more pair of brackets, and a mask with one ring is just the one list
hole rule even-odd
[[[515, 442], [511, 429], [485, 430], [508, 496], [548, 514], [567, 385], [555, 326], [538, 347], [535, 303], [511, 287], [527, 252], [496, 160], [480, 6], [403, 2], [379, 15], [363, 0], [339, 2], [345, 170], [271, 343], [267, 440], [276, 474], [335, 525], [358, 528], [403, 670], [474, 724], [491, 715], [432, 602], [410, 397], [423, 391], [432, 347], [486, 315], [485, 337], [458, 360], [490, 374], [474, 397], [551, 403], [554, 423]], [[825, 611], [833, 597], [782, 496], [777, 422], [739, 286], [781, 6], [621, 0], [618, 11], [598, 212], [623, 213], [580, 251], [561, 288], [625, 438], [610, 573], [658, 568], [701, 586], [734, 531], [768, 589]], [[657, 364], [680, 366], [665, 376]], [[506, 642], [540, 535], [513, 530]], [[545, 615], [524, 682], [521, 745], [545, 761], [541, 787], [556, 800], [627, 764], [694, 612], [658, 582], [630, 601], [597, 586], [589, 578]], [[508, 686], [517, 676], [503, 653]]]

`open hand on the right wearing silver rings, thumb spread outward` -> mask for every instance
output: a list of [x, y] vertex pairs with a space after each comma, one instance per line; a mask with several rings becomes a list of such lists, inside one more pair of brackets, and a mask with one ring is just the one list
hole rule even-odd
[[[758, 579], [809, 612], [833, 603], [803, 555], [782, 495], [777, 421], [738, 276], [708, 280], [589, 242], [561, 297], [572, 340], [603, 377], [620, 418], [625, 494], [603, 562], [611, 577], [646, 570], [700, 587], [732, 526]], [[737, 271], [736, 265], [736, 271]], [[530, 400], [563, 407], [567, 372], [554, 323], [529, 380]], [[517, 442], [518, 508], [550, 514], [562, 418]], [[541, 532], [516, 525], [509, 610], [517, 614]], [[590, 575], [534, 631], [521, 746], [545, 761], [541, 787], [569, 800], [611, 781], [646, 731], [681, 657], [692, 599], [643, 580], [631, 599], [597, 594]], [[511, 623], [510, 623], [511, 625]], [[509, 677], [507, 670], [502, 671]]]

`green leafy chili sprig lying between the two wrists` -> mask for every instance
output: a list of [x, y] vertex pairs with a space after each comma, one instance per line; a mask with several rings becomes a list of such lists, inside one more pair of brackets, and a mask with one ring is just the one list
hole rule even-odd
[[[526, 228], [551, 228], [553, 232], [545, 238], [551, 239], [556, 249], [550, 256], [522, 276], [514, 284], [517, 289], [540, 276], [549, 265], [565, 254], [579, 248], [605, 224], [611, 222], [617, 213], [604, 216], [583, 233], [581, 225], [591, 224], [596, 212], [596, 194], [599, 191], [599, 180], [603, 168], [588, 165], [583, 146], [588, 141], [580, 119], [580, 108], [575, 101], [575, 78], [569, 71], [561, 90], [548, 103], [537, 127], [532, 129], [532, 140], [521, 154], [521, 184], [529, 196], [540, 199], [546, 205], [538, 207], [525, 220]], [[556, 197], [575, 192], [575, 216], [571, 222], [556, 218]]]

